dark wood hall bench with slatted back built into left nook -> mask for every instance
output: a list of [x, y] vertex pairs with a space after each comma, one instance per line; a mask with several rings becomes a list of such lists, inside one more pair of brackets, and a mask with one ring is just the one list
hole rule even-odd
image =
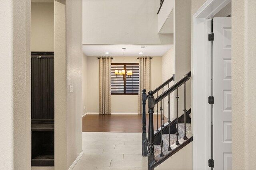
[[31, 166], [54, 166], [53, 52], [31, 52]]

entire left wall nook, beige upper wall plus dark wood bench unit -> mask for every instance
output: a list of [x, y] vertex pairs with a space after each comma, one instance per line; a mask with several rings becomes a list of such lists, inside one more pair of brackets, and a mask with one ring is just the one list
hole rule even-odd
[[54, 1], [31, 3], [31, 166], [54, 166]]

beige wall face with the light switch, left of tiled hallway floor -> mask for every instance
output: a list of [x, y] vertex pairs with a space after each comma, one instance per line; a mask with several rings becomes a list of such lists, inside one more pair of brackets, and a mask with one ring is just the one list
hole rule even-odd
[[[82, 0], [66, 1], [67, 168], [82, 152]], [[70, 84], [74, 92], [70, 93]]]

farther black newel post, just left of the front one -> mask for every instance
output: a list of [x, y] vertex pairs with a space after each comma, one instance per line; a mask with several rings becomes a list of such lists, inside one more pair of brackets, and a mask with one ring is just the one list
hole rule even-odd
[[146, 148], [144, 147], [143, 141], [147, 138], [146, 134], [146, 100], [147, 94], [146, 89], [142, 90], [142, 156], [146, 156]]

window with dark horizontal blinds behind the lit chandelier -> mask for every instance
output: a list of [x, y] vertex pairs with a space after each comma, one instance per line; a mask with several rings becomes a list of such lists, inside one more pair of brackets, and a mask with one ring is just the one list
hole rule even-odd
[[[131, 78], [120, 78], [115, 70], [132, 70]], [[125, 76], [124, 76], [125, 77]], [[139, 63], [111, 63], [111, 94], [138, 94]]]

